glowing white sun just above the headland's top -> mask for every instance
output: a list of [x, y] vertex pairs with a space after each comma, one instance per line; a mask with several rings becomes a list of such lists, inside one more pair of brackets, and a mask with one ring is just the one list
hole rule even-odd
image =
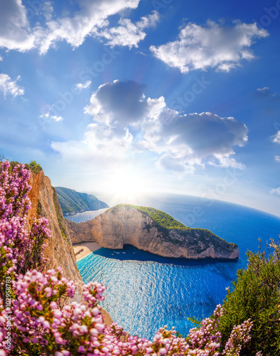
[[149, 182], [140, 170], [131, 166], [114, 167], [110, 172], [108, 191], [120, 203], [136, 204], [149, 190]]

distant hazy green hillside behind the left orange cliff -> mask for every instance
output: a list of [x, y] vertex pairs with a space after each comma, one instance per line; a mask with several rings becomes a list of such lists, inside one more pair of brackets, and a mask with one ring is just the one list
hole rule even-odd
[[94, 195], [79, 193], [76, 190], [63, 187], [55, 187], [55, 189], [64, 216], [109, 207], [108, 204], [100, 201]]

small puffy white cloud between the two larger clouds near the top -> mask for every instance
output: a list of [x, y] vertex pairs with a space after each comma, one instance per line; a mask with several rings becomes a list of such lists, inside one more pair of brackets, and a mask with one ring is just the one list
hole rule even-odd
[[105, 38], [106, 44], [109, 46], [128, 46], [129, 48], [135, 46], [138, 48], [138, 43], [146, 36], [144, 28], [155, 26], [159, 19], [157, 11], [153, 11], [151, 15], [143, 16], [135, 24], [130, 19], [120, 19], [119, 26], [105, 28], [96, 33], [96, 36]]

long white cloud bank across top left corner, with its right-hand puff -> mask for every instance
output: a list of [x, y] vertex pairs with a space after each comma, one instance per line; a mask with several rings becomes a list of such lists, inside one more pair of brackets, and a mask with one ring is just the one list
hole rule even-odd
[[[136, 9], [140, 0], [77, 0], [79, 11], [73, 16], [53, 16], [51, 1], [41, 4], [38, 14], [45, 23], [36, 23], [31, 28], [28, 22], [28, 9], [22, 0], [9, 0], [1, 4], [0, 11], [0, 48], [28, 51], [39, 48], [46, 53], [58, 41], [66, 41], [73, 48], [81, 46], [88, 36], [105, 39], [110, 46], [138, 47], [145, 38], [145, 28], [154, 26], [159, 19], [156, 11], [143, 16], [133, 23], [130, 19], [120, 19], [118, 26], [109, 28], [108, 18], [125, 9]], [[33, 16], [37, 16], [33, 11]]]

